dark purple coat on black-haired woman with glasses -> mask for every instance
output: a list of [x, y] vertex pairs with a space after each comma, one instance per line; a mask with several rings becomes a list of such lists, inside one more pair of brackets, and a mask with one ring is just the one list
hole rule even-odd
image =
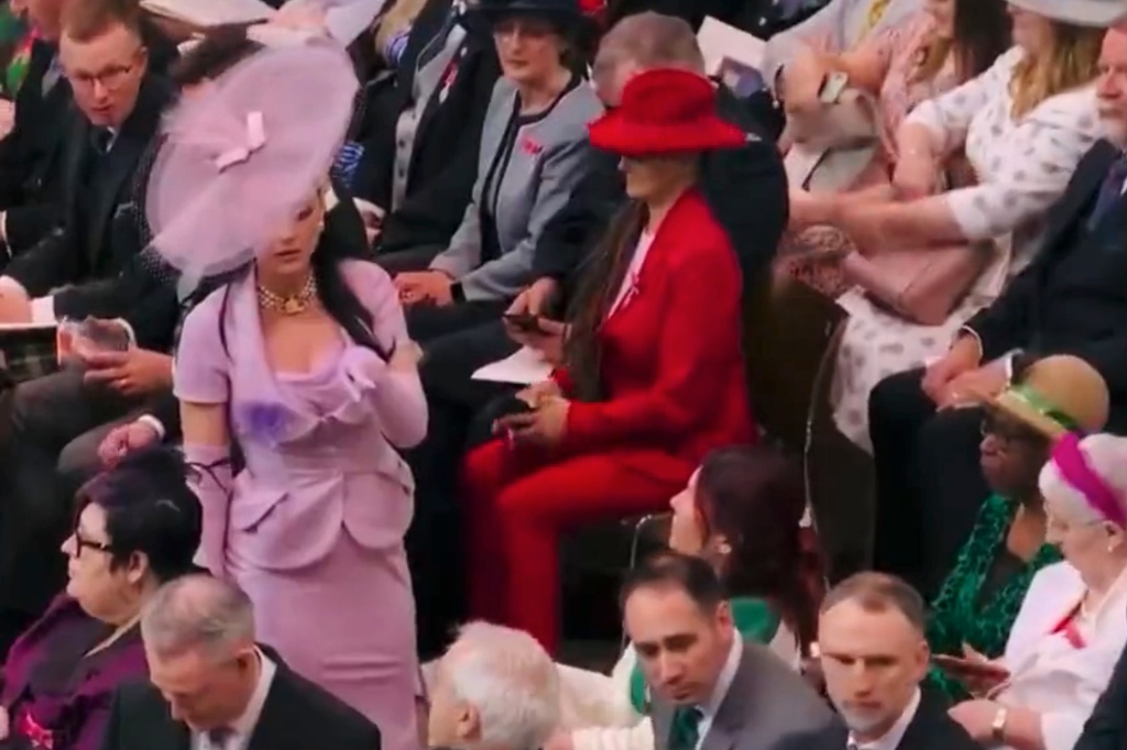
[[72, 677], [66, 689], [44, 695], [29, 690], [48, 657], [73, 649], [89, 636], [92, 624], [74, 599], [60, 596], [8, 653], [0, 703], [8, 709], [12, 734], [27, 736], [33, 747], [98, 750], [114, 691], [148, 680], [140, 628], [134, 627], [97, 654], [77, 655], [73, 669], [68, 669]]

